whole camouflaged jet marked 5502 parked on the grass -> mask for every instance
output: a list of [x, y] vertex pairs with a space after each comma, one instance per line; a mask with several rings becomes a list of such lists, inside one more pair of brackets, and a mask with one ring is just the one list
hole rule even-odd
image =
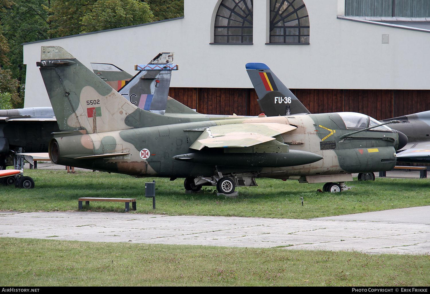
[[[396, 164], [399, 135], [360, 113], [276, 117], [169, 116], [136, 107], [70, 53], [43, 46], [40, 66], [59, 129], [52, 162], [134, 177], [185, 178], [220, 193], [255, 178], [345, 188], [353, 172]], [[402, 142], [400, 145], [402, 145]], [[339, 182], [334, 183], [334, 182]]]

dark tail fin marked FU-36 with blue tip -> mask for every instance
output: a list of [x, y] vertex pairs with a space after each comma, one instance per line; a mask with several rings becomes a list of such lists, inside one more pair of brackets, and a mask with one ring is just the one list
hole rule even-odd
[[246, 72], [257, 92], [257, 102], [267, 116], [310, 113], [266, 64], [247, 63]]

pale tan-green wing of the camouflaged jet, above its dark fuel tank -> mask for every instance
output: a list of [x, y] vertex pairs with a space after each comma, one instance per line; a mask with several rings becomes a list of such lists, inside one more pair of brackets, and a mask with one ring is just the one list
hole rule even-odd
[[295, 126], [276, 122], [240, 123], [211, 126], [190, 146], [201, 150], [210, 148], [249, 147], [275, 140], [274, 136], [297, 129]]

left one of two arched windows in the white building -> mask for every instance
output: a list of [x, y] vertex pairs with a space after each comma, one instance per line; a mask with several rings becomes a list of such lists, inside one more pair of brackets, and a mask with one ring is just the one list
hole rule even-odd
[[215, 16], [214, 43], [252, 44], [253, 0], [222, 0]]

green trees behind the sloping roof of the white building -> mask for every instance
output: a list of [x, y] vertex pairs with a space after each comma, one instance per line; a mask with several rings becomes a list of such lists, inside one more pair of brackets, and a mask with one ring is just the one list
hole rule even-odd
[[22, 107], [22, 43], [183, 15], [184, 0], [0, 0], [0, 92]]

